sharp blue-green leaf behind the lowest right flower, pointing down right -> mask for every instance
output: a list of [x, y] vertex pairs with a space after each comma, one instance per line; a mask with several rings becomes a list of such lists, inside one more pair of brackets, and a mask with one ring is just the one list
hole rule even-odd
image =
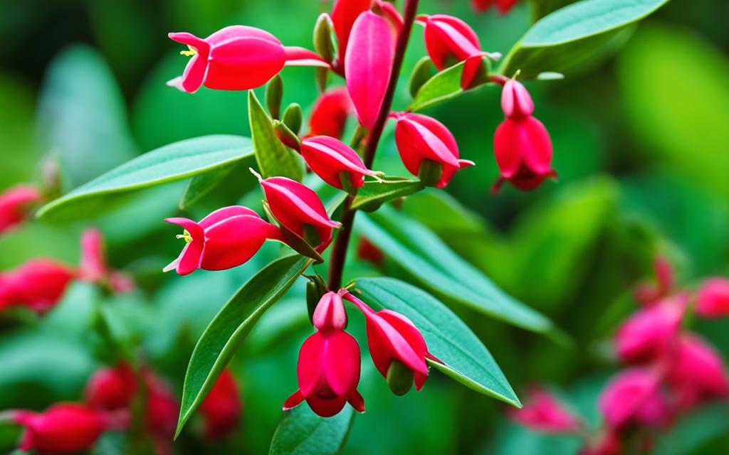
[[447, 306], [393, 278], [364, 278], [355, 284], [362, 291], [362, 300], [370, 306], [392, 309], [413, 321], [423, 333], [428, 351], [443, 361], [429, 361], [433, 368], [476, 392], [521, 407], [494, 357]]

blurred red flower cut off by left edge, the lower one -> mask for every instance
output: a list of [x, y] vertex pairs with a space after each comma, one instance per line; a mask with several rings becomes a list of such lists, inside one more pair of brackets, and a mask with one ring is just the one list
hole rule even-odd
[[0, 309], [27, 306], [39, 314], [61, 300], [76, 272], [52, 259], [31, 259], [0, 274]]

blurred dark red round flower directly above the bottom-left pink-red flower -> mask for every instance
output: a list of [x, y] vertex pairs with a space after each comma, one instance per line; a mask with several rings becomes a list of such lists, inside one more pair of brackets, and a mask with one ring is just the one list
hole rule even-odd
[[116, 411], [128, 408], [136, 394], [134, 371], [128, 363], [102, 368], [86, 384], [86, 403], [94, 409]]

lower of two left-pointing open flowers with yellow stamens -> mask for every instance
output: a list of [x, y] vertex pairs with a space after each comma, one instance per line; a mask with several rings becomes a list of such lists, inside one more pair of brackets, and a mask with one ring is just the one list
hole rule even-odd
[[184, 228], [187, 244], [179, 257], [165, 267], [181, 275], [196, 269], [224, 270], [248, 261], [265, 240], [279, 240], [281, 232], [273, 224], [263, 221], [253, 210], [239, 205], [223, 207], [200, 220], [167, 218], [168, 223]]

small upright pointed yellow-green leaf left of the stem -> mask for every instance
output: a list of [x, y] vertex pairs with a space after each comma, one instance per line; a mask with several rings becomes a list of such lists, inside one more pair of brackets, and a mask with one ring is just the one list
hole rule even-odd
[[301, 159], [278, 140], [273, 123], [253, 90], [248, 92], [248, 118], [256, 162], [263, 178], [281, 176], [301, 181], [304, 175]]

